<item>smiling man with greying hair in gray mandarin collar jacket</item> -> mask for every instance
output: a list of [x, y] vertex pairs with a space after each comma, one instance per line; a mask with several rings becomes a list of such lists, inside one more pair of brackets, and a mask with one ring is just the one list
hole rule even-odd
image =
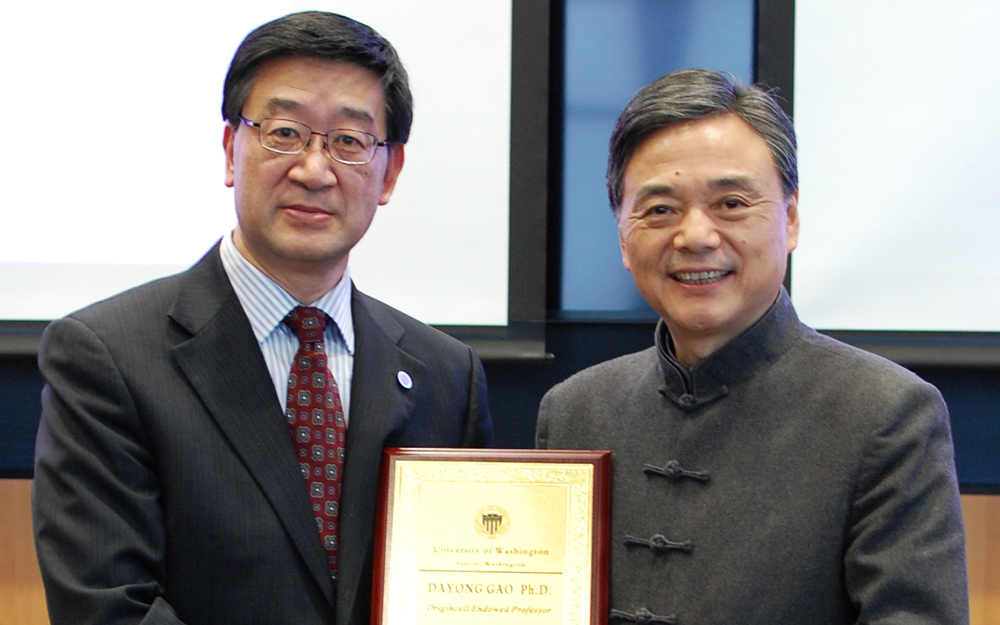
[[622, 259], [650, 349], [542, 400], [537, 445], [610, 449], [611, 622], [967, 623], [940, 393], [799, 322], [791, 121], [703, 70], [641, 90], [611, 138]]

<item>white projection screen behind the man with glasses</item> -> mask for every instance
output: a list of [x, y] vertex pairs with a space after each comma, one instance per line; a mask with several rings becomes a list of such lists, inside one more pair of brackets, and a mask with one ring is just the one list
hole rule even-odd
[[393, 42], [415, 100], [396, 191], [351, 255], [355, 283], [427, 323], [507, 327], [514, 4], [7, 7], [0, 320], [53, 319], [176, 273], [229, 232], [219, 112], [229, 61], [260, 24], [322, 9]]

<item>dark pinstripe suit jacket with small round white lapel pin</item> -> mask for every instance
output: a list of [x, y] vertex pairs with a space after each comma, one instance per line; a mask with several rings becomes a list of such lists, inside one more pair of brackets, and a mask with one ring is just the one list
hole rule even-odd
[[352, 305], [336, 585], [217, 247], [49, 326], [33, 498], [53, 623], [368, 622], [383, 447], [486, 446], [492, 426], [467, 346], [356, 290]]

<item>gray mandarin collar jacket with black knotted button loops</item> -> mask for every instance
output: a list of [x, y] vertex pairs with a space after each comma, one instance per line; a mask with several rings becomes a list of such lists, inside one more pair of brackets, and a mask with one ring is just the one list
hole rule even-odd
[[941, 395], [772, 308], [690, 369], [656, 345], [542, 400], [539, 447], [612, 452], [611, 623], [968, 622]]

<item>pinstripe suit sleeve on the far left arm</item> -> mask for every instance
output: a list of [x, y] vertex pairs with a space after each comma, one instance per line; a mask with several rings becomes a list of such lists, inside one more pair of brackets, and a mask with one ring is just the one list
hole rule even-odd
[[180, 623], [163, 600], [164, 519], [141, 419], [103, 341], [73, 318], [39, 350], [32, 494], [54, 625]]

